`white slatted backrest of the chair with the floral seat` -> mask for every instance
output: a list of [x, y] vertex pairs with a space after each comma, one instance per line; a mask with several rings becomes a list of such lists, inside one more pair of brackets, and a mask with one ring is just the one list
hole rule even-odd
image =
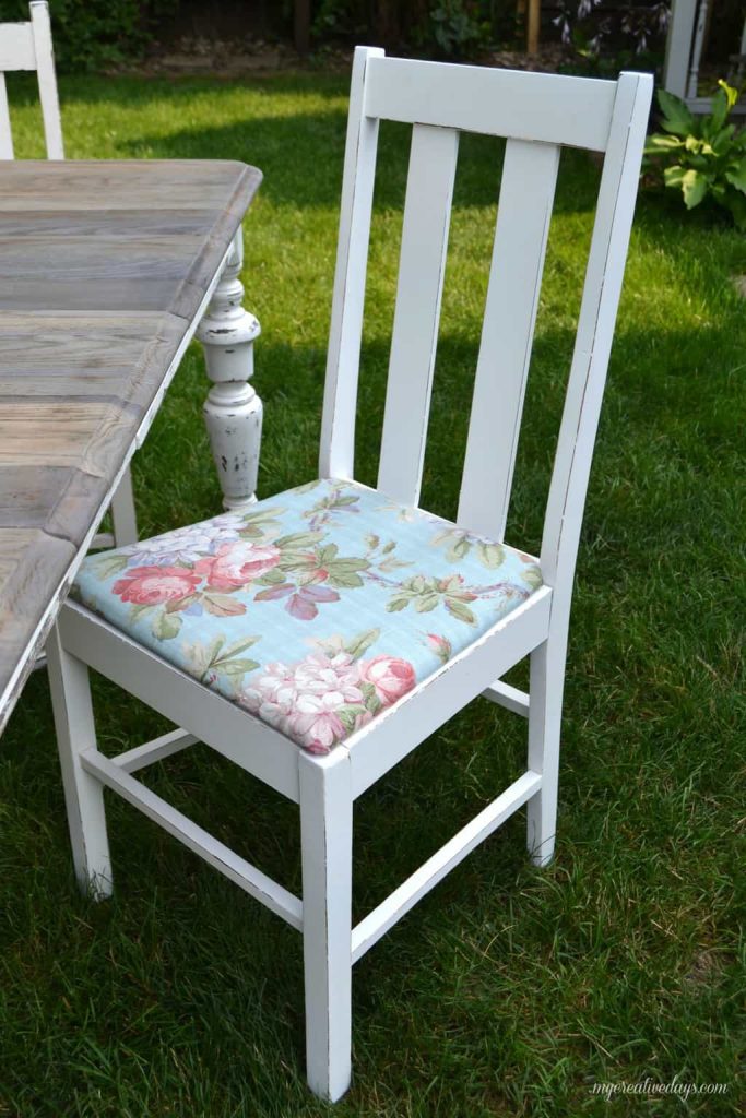
[[358, 47], [321, 442], [322, 476], [352, 477], [374, 174], [381, 120], [413, 125], [378, 487], [417, 505], [459, 135], [506, 139], [457, 524], [502, 540], [561, 146], [604, 154], [541, 569], [572, 586], [622, 286], [652, 78], [617, 82], [387, 58]]

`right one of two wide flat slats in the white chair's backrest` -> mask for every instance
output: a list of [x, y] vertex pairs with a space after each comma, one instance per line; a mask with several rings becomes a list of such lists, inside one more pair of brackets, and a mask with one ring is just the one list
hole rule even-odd
[[509, 140], [457, 523], [502, 540], [559, 167], [556, 144]]

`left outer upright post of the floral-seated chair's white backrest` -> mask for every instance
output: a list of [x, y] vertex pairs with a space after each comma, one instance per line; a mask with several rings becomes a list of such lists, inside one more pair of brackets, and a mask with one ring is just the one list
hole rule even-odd
[[355, 51], [347, 121], [342, 201], [334, 295], [331, 307], [321, 454], [322, 477], [352, 477], [362, 309], [366, 296], [378, 119], [363, 112], [366, 72], [383, 55], [376, 47]]

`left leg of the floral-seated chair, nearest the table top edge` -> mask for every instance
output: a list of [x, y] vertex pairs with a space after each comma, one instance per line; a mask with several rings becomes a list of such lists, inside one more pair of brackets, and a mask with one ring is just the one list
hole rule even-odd
[[79, 761], [84, 750], [96, 748], [88, 669], [65, 651], [56, 626], [47, 638], [47, 663], [75, 873], [83, 892], [103, 900], [112, 892], [104, 789]]

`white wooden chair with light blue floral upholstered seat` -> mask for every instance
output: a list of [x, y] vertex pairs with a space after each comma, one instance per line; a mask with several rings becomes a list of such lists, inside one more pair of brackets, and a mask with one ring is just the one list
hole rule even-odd
[[[355, 53], [319, 480], [89, 557], [48, 655], [75, 866], [112, 890], [113, 789], [303, 935], [311, 1089], [350, 1080], [351, 968], [522, 805], [555, 844], [575, 558], [652, 93], [618, 82]], [[353, 481], [355, 409], [379, 120], [414, 124], [377, 489]], [[493, 265], [454, 523], [419, 510], [460, 131], [507, 138]], [[563, 144], [605, 154], [539, 559], [503, 541]], [[501, 681], [530, 656], [530, 697]], [[87, 669], [180, 729], [96, 749]], [[522, 776], [351, 927], [352, 804], [485, 694], [528, 719]], [[134, 777], [195, 740], [300, 806], [302, 900]]]

